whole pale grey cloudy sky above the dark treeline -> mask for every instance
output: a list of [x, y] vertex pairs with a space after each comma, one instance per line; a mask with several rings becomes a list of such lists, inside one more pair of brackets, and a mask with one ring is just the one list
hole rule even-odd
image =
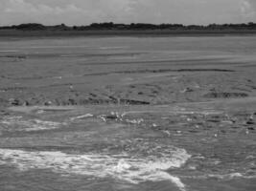
[[0, 25], [256, 22], [256, 0], [0, 0]]

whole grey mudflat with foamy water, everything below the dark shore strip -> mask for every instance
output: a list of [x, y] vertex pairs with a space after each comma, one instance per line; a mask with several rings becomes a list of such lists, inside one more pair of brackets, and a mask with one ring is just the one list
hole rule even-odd
[[255, 190], [255, 53], [249, 35], [2, 38], [0, 188]]

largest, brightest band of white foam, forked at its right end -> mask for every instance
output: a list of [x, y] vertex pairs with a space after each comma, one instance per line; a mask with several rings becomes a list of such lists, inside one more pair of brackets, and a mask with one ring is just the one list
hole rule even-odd
[[0, 149], [0, 164], [12, 164], [22, 171], [50, 169], [56, 173], [79, 174], [88, 177], [126, 180], [130, 183], [142, 181], [171, 180], [180, 190], [185, 185], [177, 177], [166, 172], [178, 168], [190, 158], [183, 149], [169, 147], [163, 155], [130, 157], [123, 155], [70, 155], [62, 152], [29, 152]]

